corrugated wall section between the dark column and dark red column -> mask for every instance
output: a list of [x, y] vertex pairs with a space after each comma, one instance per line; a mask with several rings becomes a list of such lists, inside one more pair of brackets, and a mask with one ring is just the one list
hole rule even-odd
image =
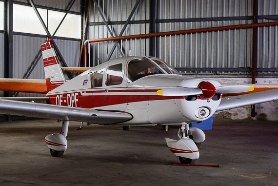
[[[157, 0], [157, 19], [251, 16], [251, 5], [252, 0]], [[157, 32], [247, 23], [251, 21], [158, 23]], [[159, 37], [158, 57], [175, 67], [250, 67], [251, 37], [251, 29]]]

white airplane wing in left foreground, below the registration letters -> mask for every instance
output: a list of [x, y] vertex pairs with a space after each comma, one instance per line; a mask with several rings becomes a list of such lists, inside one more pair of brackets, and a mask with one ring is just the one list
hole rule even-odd
[[0, 114], [51, 118], [61, 121], [88, 122], [94, 124], [117, 124], [129, 121], [133, 116], [121, 111], [102, 111], [43, 103], [0, 100]]

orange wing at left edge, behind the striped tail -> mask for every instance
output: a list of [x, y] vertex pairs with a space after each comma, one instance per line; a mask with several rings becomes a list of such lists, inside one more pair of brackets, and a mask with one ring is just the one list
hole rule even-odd
[[0, 78], [0, 90], [46, 94], [45, 80]]

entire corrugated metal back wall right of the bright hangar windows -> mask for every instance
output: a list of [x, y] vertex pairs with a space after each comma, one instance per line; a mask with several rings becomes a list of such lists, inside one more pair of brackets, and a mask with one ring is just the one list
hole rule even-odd
[[[104, 12], [106, 21], [124, 21], [136, 0], [98, 0], [93, 3], [90, 22], [103, 22], [96, 6]], [[137, 17], [149, 19], [150, 1], [142, 0]], [[104, 4], [104, 5], [103, 5]], [[258, 0], [258, 15], [278, 15], [278, 0]], [[156, 32], [189, 30], [253, 23], [253, 0], [156, 0]], [[203, 18], [225, 18], [225, 21], [200, 21]], [[190, 20], [191, 19], [191, 20]], [[171, 21], [172, 20], [172, 21]], [[265, 20], [264, 20], [265, 21]], [[109, 24], [118, 36], [123, 24]], [[262, 22], [262, 21], [261, 21]], [[258, 67], [273, 68], [278, 63], [278, 26], [258, 28]], [[125, 35], [149, 33], [149, 24], [130, 24]], [[105, 25], [89, 27], [89, 39], [111, 37]], [[149, 39], [120, 41], [124, 55], [149, 55]], [[90, 44], [93, 64], [105, 62], [114, 42]], [[92, 48], [93, 47], [93, 48]], [[161, 36], [156, 38], [156, 57], [175, 67], [240, 68], [252, 66], [252, 29], [203, 32]], [[113, 58], [120, 57], [118, 49]], [[97, 61], [97, 62], [96, 62]]]

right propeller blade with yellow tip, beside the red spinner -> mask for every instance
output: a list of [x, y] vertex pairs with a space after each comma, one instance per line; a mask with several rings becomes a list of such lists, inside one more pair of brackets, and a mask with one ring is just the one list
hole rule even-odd
[[232, 93], [250, 92], [253, 90], [254, 90], [254, 86], [246, 86], [246, 85], [231, 85], [231, 86], [216, 87], [217, 94], [232, 94]]

